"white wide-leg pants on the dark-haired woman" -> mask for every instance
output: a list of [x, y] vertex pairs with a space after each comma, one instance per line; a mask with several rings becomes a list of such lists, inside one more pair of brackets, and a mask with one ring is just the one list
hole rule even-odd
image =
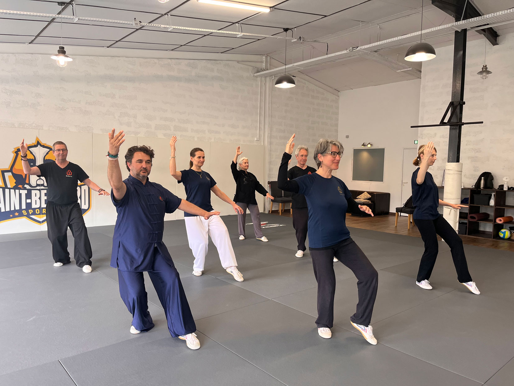
[[232, 242], [227, 226], [219, 216], [211, 216], [208, 220], [201, 216], [185, 217], [189, 248], [193, 252], [193, 270], [203, 271], [205, 256], [209, 247], [209, 236], [218, 250], [219, 260], [223, 268], [237, 266]]

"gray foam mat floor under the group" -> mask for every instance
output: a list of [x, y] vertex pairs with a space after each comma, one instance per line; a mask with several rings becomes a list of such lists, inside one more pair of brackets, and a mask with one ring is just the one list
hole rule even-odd
[[[415, 285], [419, 238], [350, 229], [379, 272], [372, 346], [350, 324], [356, 278], [334, 263], [337, 285], [332, 339], [318, 336], [317, 285], [310, 254], [295, 257], [292, 221], [261, 214], [268, 243], [247, 225], [238, 240], [235, 216], [225, 216], [245, 281], [235, 282], [209, 244], [204, 275], [183, 220], [164, 227], [196, 320], [201, 348], [170, 337], [147, 274], [155, 327], [129, 332], [131, 315], [109, 267], [114, 226], [88, 229], [93, 272], [75, 261], [52, 266], [43, 232], [0, 235], [0, 384], [45, 385], [359, 385], [507, 386], [514, 384], [514, 256], [465, 245], [482, 294], [459, 284], [445, 243], [430, 279]], [[74, 242], [69, 236], [69, 252]]]

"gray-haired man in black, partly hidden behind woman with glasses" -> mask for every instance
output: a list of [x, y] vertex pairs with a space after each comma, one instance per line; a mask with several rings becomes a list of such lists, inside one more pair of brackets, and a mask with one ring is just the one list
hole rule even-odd
[[[316, 169], [307, 166], [307, 156], [309, 155], [309, 149], [307, 146], [298, 146], [295, 151], [297, 165], [293, 166], [287, 171], [287, 178], [294, 180], [295, 178], [305, 176], [305, 174], [316, 173]], [[307, 208], [307, 201], [305, 196], [293, 193], [292, 194], [292, 226], [296, 231], [296, 239], [298, 240], [298, 252], [296, 257], [303, 257], [305, 252], [305, 239], [307, 238], [307, 221], [309, 219], [309, 212]]]

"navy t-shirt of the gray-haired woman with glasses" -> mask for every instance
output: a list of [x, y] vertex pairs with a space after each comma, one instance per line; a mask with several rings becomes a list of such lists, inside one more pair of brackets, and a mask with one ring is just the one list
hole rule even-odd
[[296, 181], [298, 193], [307, 199], [309, 212], [309, 248], [331, 247], [350, 238], [346, 227], [347, 199], [352, 198], [350, 190], [337, 177], [321, 177], [318, 173], [305, 174]]

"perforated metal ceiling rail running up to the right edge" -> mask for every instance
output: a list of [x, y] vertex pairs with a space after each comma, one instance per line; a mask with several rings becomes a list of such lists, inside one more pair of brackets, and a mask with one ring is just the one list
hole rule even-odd
[[282, 74], [284, 72], [294, 72], [301, 69], [315, 67], [321, 64], [333, 63], [347, 58], [355, 57], [357, 50], [364, 51], [378, 51], [382, 49], [395, 48], [398, 46], [408, 45], [415, 42], [419, 42], [421, 35], [422, 40], [439, 38], [447, 34], [453, 34], [455, 31], [461, 31], [463, 29], [478, 29], [475, 27], [482, 27], [482, 29], [488, 28], [489, 25], [498, 23], [512, 23], [514, 22], [514, 8], [507, 9], [505, 11], [490, 13], [473, 19], [463, 20], [460, 22], [454, 22], [434, 28], [425, 29], [423, 31], [413, 32], [406, 35], [402, 35], [396, 38], [382, 40], [376, 43], [366, 44], [359, 47], [350, 47], [344, 51], [334, 52], [320, 56], [318, 58], [308, 59], [297, 63], [287, 64], [278, 68], [269, 69], [267, 71], [261, 71], [253, 74], [255, 77], [267, 77]]

